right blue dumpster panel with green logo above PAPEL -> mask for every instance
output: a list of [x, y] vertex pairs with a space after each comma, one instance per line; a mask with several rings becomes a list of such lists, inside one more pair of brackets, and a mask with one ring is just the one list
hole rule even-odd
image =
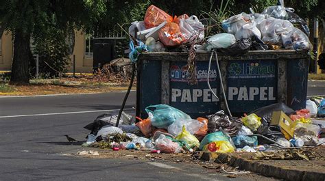
[[227, 86], [230, 109], [249, 112], [276, 103], [276, 61], [229, 61]]

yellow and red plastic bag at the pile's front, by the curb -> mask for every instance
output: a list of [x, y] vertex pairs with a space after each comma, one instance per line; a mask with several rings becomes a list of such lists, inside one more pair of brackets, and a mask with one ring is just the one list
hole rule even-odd
[[230, 144], [229, 141], [213, 141], [204, 145], [203, 151], [229, 153], [234, 152], [234, 147]]

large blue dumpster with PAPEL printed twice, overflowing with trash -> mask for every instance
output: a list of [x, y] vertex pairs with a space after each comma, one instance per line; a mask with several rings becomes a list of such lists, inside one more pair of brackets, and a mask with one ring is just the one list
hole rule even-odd
[[[143, 53], [137, 65], [136, 115], [147, 117], [145, 107], [167, 104], [196, 118], [226, 110], [219, 72], [210, 53], [197, 53], [197, 84], [190, 85], [187, 53]], [[230, 56], [218, 53], [221, 79], [233, 115], [243, 115], [276, 102], [292, 109], [306, 107], [309, 55], [306, 51], [250, 51]], [[211, 88], [208, 88], [207, 75]]]

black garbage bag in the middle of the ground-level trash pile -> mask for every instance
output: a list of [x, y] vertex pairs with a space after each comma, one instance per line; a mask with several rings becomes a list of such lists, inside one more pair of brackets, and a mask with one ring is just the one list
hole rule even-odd
[[234, 136], [237, 135], [242, 126], [242, 123], [239, 119], [235, 119], [234, 117], [229, 118], [228, 115], [226, 115], [222, 110], [206, 117], [208, 118], [209, 133], [214, 133], [218, 131], [219, 128], [222, 128], [230, 136]]

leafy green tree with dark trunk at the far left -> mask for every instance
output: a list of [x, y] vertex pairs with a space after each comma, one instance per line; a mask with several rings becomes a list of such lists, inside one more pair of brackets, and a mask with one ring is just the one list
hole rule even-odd
[[31, 37], [43, 37], [49, 27], [58, 31], [90, 27], [105, 10], [104, 0], [1, 0], [0, 22], [14, 35], [10, 83], [29, 83]]

